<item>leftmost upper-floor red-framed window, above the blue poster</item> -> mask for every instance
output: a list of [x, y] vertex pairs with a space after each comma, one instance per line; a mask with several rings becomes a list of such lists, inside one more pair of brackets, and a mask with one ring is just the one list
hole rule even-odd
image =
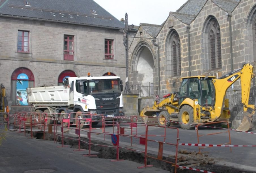
[[29, 52], [29, 31], [18, 30], [18, 52]]

